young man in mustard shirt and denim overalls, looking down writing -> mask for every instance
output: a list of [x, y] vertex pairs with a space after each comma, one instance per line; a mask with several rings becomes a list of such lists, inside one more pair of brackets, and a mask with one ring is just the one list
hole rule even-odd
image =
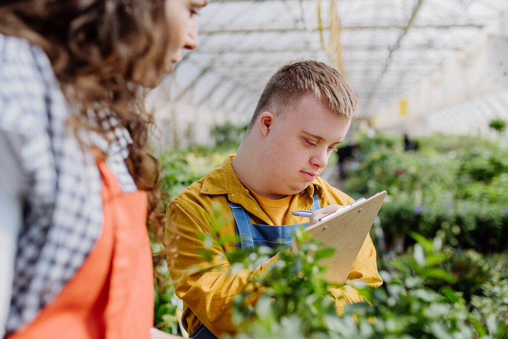
[[[168, 267], [176, 294], [184, 301], [182, 323], [191, 337], [235, 332], [232, 299], [251, 273], [228, 275], [212, 269], [199, 255], [204, 248], [199, 234], [214, 239], [240, 235], [236, 246], [242, 249], [274, 245], [278, 239], [289, 245], [291, 231], [308, 222], [291, 211], [312, 210], [310, 224], [314, 224], [338, 205], [351, 203], [351, 197], [319, 175], [356, 113], [355, 93], [336, 70], [313, 60], [282, 66], [266, 85], [236, 155], [170, 203]], [[217, 232], [210, 224], [215, 206], [230, 216]], [[230, 266], [221, 256], [227, 249], [228, 245], [214, 243], [215, 265]], [[275, 260], [277, 256], [256, 270], [265, 270]], [[348, 279], [375, 287], [382, 284], [369, 236]], [[344, 303], [362, 300], [351, 286], [331, 292], [343, 297], [336, 302], [339, 311]]]

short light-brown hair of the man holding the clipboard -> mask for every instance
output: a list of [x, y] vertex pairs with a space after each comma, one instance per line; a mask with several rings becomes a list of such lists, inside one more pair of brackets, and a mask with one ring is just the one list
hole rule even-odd
[[252, 115], [247, 131], [264, 111], [285, 114], [307, 93], [332, 112], [354, 119], [358, 101], [347, 80], [332, 67], [315, 60], [297, 60], [281, 66], [268, 80]]

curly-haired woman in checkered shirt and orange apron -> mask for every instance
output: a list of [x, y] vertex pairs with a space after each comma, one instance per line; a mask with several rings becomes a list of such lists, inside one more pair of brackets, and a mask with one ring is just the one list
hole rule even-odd
[[197, 46], [206, 2], [2, 1], [0, 337], [149, 337], [162, 220], [140, 88]]

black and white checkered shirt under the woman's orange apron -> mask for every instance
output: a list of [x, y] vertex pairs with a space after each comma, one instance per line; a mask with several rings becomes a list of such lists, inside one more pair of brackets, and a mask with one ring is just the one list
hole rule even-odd
[[[0, 35], [0, 140], [8, 149], [1, 161], [17, 169], [13, 182], [22, 211], [7, 333], [33, 320], [53, 300], [101, 235], [99, 170], [66, 125], [68, 118], [44, 51]], [[111, 131], [112, 146], [98, 135], [89, 134], [89, 140], [108, 153], [119, 187], [136, 191], [124, 162], [132, 140], [114, 114], [108, 121], [103, 128]]]

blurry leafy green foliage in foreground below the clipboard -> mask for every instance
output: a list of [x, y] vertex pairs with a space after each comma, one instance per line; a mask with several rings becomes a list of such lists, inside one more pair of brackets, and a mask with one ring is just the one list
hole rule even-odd
[[[295, 235], [296, 251], [281, 252], [278, 264], [252, 277], [252, 284], [265, 288], [254, 306], [249, 298], [252, 288], [237, 297], [237, 338], [503, 338], [507, 334], [504, 313], [496, 315], [491, 309], [471, 313], [460, 292], [446, 285], [439, 290], [429, 287], [436, 281], [453, 283], [456, 278], [439, 267], [448, 258], [441, 240], [415, 233], [411, 234], [417, 240], [412, 253], [404, 260], [390, 261], [389, 271], [381, 272], [384, 287], [358, 286], [368, 302], [346, 306], [345, 315], [339, 317], [327, 292], [330, 285], [324, 281], [326, 268], [311, 258], [316, 244], [303, 234]], [[261, 251], [266, 255], [270, 249]], [[316, 256], [332, 253], [323, 251]], [[248, 257], [259, 260], [260, 254]], [[490, 312], [489, 318], [483, 319], [481, 312]]]

